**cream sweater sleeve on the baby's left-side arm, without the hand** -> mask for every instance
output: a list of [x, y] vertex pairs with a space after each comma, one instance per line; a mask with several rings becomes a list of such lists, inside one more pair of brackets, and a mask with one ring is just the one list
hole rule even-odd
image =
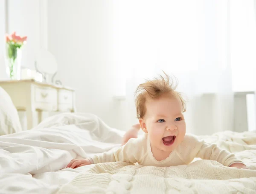
[[140, 151], [140, 139], [131, 138], [125, 145], [118, 148], [116, 151], [106, 151], [102, 154], [97, 154], [91, 157], [89, 160], [96, 163], [108, 163], [108, 162], [130, 162], [137, 163], [140, 159], [141, 154]]

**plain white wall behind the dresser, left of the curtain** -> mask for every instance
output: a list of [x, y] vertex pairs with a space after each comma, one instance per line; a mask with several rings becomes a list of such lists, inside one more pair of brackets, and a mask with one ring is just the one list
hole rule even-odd
[[[36, 52], [41, 47], [49, 48], [58, 61], [56, 78], [76, 89], [77, 111], [96, 114], [116, 128], [130, 127], [124, 127], [125, 119], [119, 111], [122, 102], [113, 100], [114, 95], [123, 94], [120, 80], [124, 79], [118, 73], [120, 66], [112, 60], [115, 19], [111, 1], [0, 0], [0, 3], [2, 55], [6, 32], [28, 36], [21, 66], [34, 69]], [[0, 63], [0, 80], [7, 79], [5, 70]], [[26, 128], [26, 115], [24, 112], [19, 115]]]

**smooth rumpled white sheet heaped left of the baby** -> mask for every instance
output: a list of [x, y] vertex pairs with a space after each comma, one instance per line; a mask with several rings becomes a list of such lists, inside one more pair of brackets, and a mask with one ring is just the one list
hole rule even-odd
[[115, 149], [124, 131], [93, 114], [60, 114], [30, 131], [0, 137], [0, 193], [54, 193], [93, 165], [63, 169], [73, 158]]

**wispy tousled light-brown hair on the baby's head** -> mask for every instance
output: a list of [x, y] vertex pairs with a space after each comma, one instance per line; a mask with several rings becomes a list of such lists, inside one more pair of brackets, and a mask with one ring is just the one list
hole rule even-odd
[[145, 83], [140, 84], [135, 91], [135, 106], [137, 110], [137, 118], [143, 118], [146, 113], [145, 102], [147, 98], [155, 99], [163, 94], [172, 94], [178, 99], [180, 99], [183, 107], [183, 112], [186, 111], [186, 103], [181, 94], [175, 89], [177, 88], [177, 83], [167, 75], [165, 72], [165, 77], [160, 76], [160, 79], [154, 78], [154, 80], [146, 80]]

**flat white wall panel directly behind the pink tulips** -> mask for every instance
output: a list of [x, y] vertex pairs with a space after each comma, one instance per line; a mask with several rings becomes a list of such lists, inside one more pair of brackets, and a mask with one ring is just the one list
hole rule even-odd
[[27, 36], [23, 47], [21, 66], [34, 68], [35, 52], [40, 48], [39, 0], [8, 0], [8, 29]]

